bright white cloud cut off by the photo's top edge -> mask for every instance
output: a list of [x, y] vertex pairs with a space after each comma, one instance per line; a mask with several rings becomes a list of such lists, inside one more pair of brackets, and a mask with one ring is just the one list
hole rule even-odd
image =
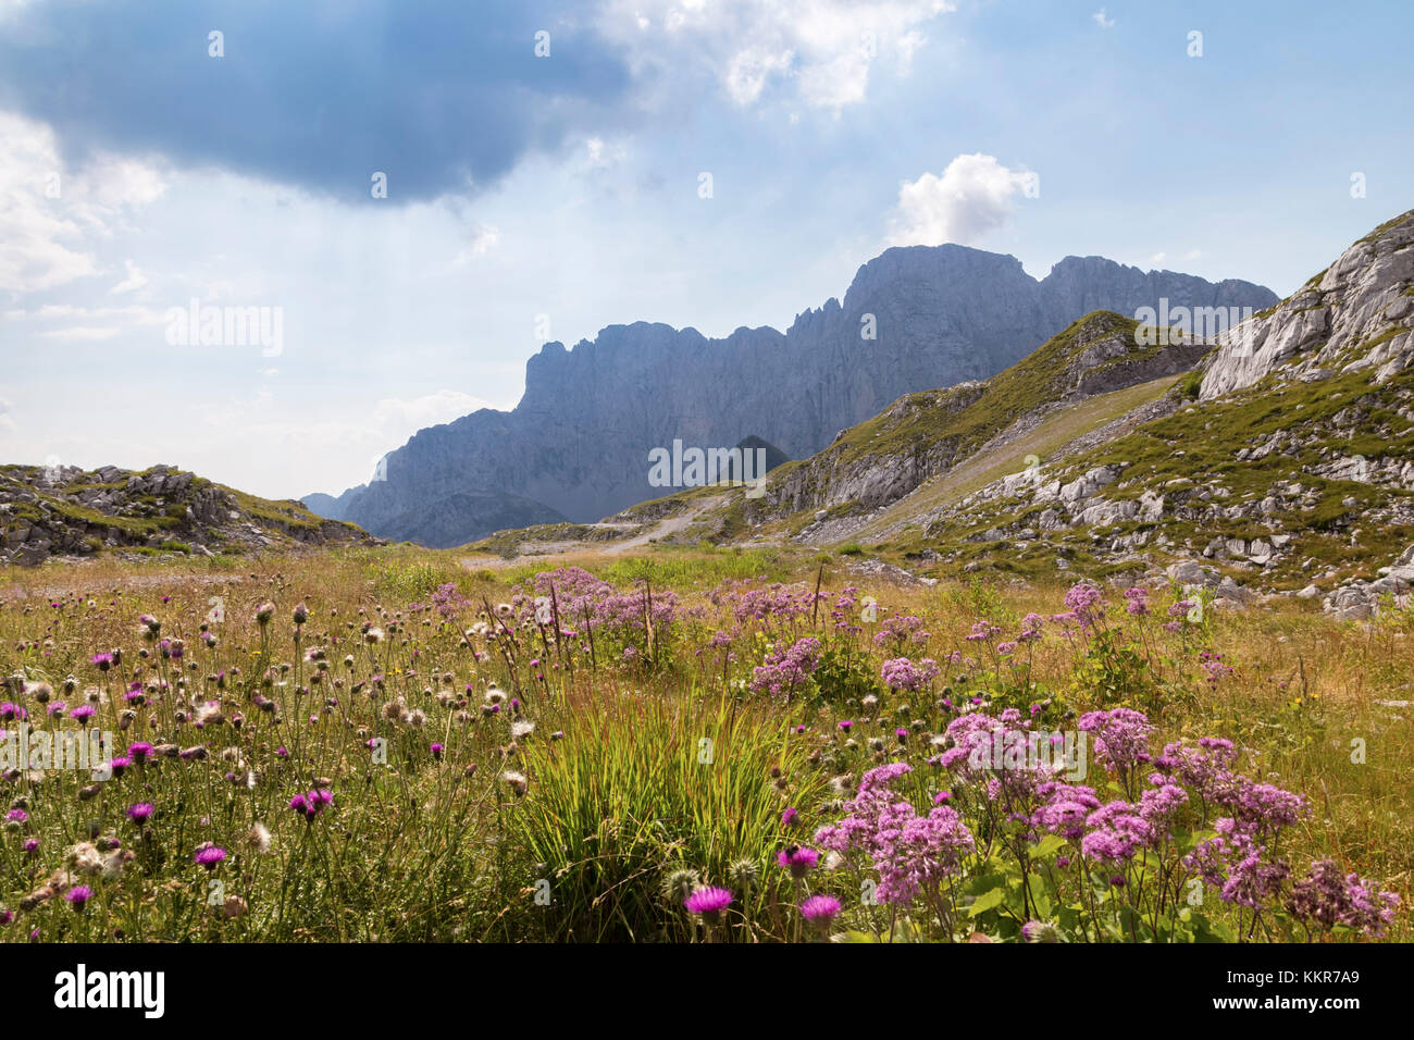
[[839, 112], [864, 100], [875, 61], [908, 75], [921, 25], [956, 10], [947, 0], [608, 0], [601, 27], [639, 65], [673, 72], [704, 61], [748, 106], [775, 83]]

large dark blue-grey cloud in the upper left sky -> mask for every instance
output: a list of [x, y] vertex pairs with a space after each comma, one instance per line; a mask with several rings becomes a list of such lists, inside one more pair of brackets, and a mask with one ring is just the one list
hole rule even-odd
[[[485, 187], [571, 132], [612, 129], [629, 74], [537, 0], [40, 0], [0, 23], [0, 106], [68, 161], [158, 153], [346, 197]], [[225, 57], [208, 57], [208, 33]], [[550, 33], [550, 57], [534, 34]]]

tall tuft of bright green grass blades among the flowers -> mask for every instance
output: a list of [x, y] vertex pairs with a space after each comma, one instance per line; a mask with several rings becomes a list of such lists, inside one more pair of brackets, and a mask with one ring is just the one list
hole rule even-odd
[[[527, 876], [539, 869], [559, 903], [543, 938], [689, 938], [660, 890], [673, 869], [714, 884], [730, 883], [741, 862], [771, 876], [765, 850], [786, 838], [786, 802], [762, 780], [773, 768], [807, 771], [807, 750], [769, 713], [691, 691], [676, 702], [609, 695], [575, 707], [573, 739], [526, 753], [536, 797], [516, 807], [512, 824], [522, 859], [542, 865]], [[792, 797], [813, 802], [823, 782], [797, 784]]]

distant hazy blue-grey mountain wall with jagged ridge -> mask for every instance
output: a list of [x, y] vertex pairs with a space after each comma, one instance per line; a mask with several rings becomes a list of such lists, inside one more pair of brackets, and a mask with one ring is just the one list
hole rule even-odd
[[[1038, 282], [1011, 256], [952, 245], [888, 249], [860, 267], [843, 303], [800, 314], [785, 334], [738, 328], [708, 340], [638, 323], [609, 325], [573, 351], [546, 344], [526, 364], [515, 410], [482, 409], [421, 430], [387, 457], [386, 480], [305, 502], [395, 539], [411, 538], [407, 518], [421, 515], [419, 541], [437, 545], [493, 529], [478, 509], [436, 508], [458, 494], [488, 505], [485, 495], [512, 494], [595, 521], [673, 490], [648, 483], [655, 447], [727, 447], [758, 436], [803, 458], [905, 393], [984, 379], [1090, 310], [1134, 314], [1161, 297], [1251, 307], [1277, 299], [1246, 282], [1212, 284], [1102, 258], [1066, 258]], [[426, 519], [431, 512], [443, 519]]]

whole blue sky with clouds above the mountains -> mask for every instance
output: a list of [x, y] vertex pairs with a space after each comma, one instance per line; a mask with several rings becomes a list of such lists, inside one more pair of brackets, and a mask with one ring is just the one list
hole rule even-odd
[[[542, 335], [785, 328], [891, 243], [1285, 294], [1414, 207], [1411, 30], [1393, 0], [0, 0], [0, 461], [337, 492], [513, 406]], [[192, 299], [279, 308], [279, 352], [173, 342]]]

